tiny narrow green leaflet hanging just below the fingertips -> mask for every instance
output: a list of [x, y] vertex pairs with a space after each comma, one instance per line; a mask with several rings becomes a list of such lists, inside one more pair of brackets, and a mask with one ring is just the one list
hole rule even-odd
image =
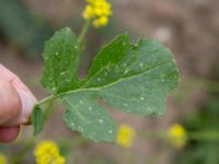
[[34, 136], [37, 136], [43, 130], [45, 121], [44, 113], [38, 106], [34, 107], [31, 121], [34, 126]]

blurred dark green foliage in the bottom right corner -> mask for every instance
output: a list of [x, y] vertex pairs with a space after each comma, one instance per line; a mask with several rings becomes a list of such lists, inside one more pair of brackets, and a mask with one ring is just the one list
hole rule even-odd
[[[211, 80], [219, 79], [218, 66], [214, 67]], [[199, 109], [191, 112], [182, 124], [191, 133], [186, 149], [173, 161], [177, 164], [218, 164], [219, 163], [219, 92], [210, 90]], [[200, 131], [200, 133], [196, 133]]]

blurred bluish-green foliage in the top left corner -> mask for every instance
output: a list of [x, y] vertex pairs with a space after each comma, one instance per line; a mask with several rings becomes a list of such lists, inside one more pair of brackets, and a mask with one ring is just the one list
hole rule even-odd
[[37, 56], [53, 28], [43, 17], [33, 15], [22, 1], [1, 0], [0, 35], [25, 54]]

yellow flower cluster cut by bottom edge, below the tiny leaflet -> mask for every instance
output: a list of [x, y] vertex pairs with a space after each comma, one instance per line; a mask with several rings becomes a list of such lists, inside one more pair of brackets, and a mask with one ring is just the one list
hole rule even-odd
[[41, 141], [34, 151], [37, 164], [65, 164], [66, 160], [59, 154], [58, 145], [53, 141]]

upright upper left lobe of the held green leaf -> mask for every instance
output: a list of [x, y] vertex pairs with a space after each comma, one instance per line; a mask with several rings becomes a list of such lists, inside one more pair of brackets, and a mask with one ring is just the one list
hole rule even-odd
[[69, 27], [55, 33], [45, 44], [42, 84], [57, 94], [78, 87], [78, 43]]

